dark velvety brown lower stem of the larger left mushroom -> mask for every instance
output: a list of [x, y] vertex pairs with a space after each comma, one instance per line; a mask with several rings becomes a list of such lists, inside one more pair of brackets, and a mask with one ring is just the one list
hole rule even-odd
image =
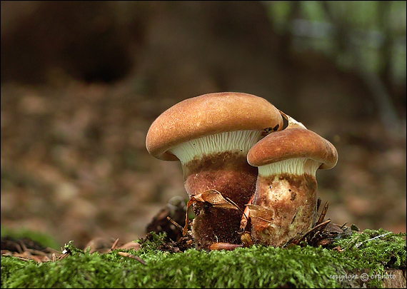
[[240, 152], [216, 153], [195, 158], [183, 166], [184, 183], [189, 196], [214, 189], [230, 198], [239, 210], [216, 208], [210, 203], [196, 203], [192, 225], [196, 243], [208, 248], [211, 243], [240, 244], [238, 230], [242, 211], [256, 191], [257, 168], [250, 166]]

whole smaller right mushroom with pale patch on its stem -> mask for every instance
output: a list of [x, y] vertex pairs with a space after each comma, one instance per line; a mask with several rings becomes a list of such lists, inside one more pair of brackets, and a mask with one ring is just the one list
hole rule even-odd
[[310, 230], [317, 215], [316, 171], [338, 161], [332, 143], [296, 125], [258, 141], [247, 161], [258, 167], [256, 193], [247, 205], [253, 243], [281, 247]]

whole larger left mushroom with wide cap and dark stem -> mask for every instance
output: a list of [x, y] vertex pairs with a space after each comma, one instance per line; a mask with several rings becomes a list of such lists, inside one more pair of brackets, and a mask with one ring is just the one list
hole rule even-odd
[[188, 98], [151, 124], [147, 151], [164, 161], [181, 161], [190, 198], [212, 191], [238, 206], [228, 210], [207, 201], [193, 204], [192, 232], [198, 248], [241, 243], [241, 211], [256, 191], [257, 178], [257, 168], [246, 160], [248, 150], [282, 125], [281, 114], [266, 99], [236, 92]]

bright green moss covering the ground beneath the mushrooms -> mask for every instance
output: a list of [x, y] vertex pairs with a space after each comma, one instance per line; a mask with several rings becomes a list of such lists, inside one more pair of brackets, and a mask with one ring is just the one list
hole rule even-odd
[[[140, 240], [126, 250], [145, 264], [120, 255], [84, 252], [71, 243], [72, 254], [56, 262], [36, 263], [1, 256], [1, 288], [349, 288], [380, 287], [380, 278], [360, 282], [361, 270], [383, 275], [386, 268], [406, 268], [406, 233], [385, 230], [354, 232], [332, 248], [271, 248], [254, 245], [226, 251], [158, 250], [164, 235]], [[339, 248], [337, 247], [337, 248]], [[343, 250], [344, 249], [344, 250]]]

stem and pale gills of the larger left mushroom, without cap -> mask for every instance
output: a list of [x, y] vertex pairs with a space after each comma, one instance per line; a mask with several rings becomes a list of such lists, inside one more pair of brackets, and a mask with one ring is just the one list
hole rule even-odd
[[[256, 191], [257, 168], [246, 160], [248, 150], [261, 131], [231, 131], [182, 143], [169, 152], [180, 159], [184, 185], [189, 197], [213, 189], [230, 198], [243, 211]], [[241, 211], [217, 208], [211, 203], [195, 203], [192, 225], [199, 247], [211, 243], [241, 243]]]

